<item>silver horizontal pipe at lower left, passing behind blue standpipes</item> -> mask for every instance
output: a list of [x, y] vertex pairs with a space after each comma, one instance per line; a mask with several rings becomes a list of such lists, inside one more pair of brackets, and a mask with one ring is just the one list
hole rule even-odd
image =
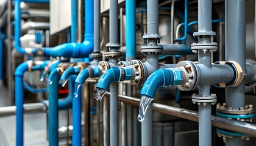
[[[46, 113], [47, 107], [44, 103], [26, 103], [23, 105], [24, 113]], [[0, 107], [0, 117], [13, 116], [16, 113], [16, 106]]]

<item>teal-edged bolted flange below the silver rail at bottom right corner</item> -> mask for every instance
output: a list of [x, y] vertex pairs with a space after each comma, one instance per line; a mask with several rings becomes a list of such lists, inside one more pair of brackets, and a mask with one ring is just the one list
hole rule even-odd
[[216, 134], [218, 135], [218, 137], [222, 137], [224, 142], [226, 142], [227, 138], [229, 138], [229, 139], [244, 139], [246, 141], [249, 141], [250, 137], [251, 137], [247, 134], [234, 133], [232, 131], [226, 131], [226, 130], [222, 130], [219, 128], [216, 128]]

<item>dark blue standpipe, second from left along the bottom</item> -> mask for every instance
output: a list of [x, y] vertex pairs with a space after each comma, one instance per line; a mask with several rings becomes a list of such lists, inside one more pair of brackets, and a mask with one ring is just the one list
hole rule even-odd
[[[50, 80], [51, 77], [51, 80]], [[59, 75], [57, 69], [51, 72], [49, 75], [49, 115], [48, 115], [48, 137], [49, 145], [59, 145]]]

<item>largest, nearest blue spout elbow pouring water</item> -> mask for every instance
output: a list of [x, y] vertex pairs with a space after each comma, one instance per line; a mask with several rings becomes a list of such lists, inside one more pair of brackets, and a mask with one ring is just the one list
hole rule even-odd
[[182, 82], [181, 72], [177, 69], [158, 69], [149, 75], [141, 88], [141, 96], [154, 99], [155, 92], [160, 86], [179, 85]]

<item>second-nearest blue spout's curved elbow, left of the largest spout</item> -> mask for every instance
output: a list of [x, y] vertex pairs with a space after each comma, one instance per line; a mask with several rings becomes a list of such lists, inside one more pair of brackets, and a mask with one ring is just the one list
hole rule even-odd
[[110, 83], [118, 83], [121, 79], [121, 70], [118, 67], [113, 67], [108, 69], [104, 74], [99, 78], [97, 88], [108, 90]]

